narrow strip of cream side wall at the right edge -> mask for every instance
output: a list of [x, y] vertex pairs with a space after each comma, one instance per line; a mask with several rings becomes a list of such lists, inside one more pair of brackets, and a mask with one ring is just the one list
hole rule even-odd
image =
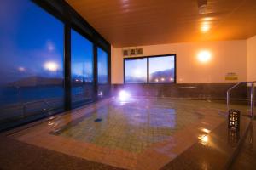
[[247, 81], [256, 80], [256, 36], [247, 39]]

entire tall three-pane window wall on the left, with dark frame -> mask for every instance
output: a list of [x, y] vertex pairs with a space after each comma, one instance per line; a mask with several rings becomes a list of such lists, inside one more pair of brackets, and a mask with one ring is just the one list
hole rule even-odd
[[2, 0], [0, 131], [108, 96], [109, 52], [65, 1]]

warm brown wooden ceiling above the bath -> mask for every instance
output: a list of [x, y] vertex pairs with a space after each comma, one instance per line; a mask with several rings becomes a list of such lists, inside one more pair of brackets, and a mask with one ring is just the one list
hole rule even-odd
[[[246, 39], [256, 35], [256, 0], [67, 0], [114, 47]], [[202, 31], [204, 29], [204, 31]]]

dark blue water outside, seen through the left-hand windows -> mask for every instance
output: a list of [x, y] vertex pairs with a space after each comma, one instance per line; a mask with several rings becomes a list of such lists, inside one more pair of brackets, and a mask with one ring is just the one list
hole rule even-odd
[[[84, 104], [91, 98], [91, 87], [90, 84], [73, 87], [73, 101]], [[60, 111], [64, 111], [62, 85], [0, 88], [0, 130]]]

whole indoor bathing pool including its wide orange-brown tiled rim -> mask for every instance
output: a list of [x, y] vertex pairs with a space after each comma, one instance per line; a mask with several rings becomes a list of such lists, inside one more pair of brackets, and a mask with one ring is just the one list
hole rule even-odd
[[202, 100], [106, 99], [13, 138], [114, 167], [159, 169], [224, 122], [224, 111], [224, 103]]

